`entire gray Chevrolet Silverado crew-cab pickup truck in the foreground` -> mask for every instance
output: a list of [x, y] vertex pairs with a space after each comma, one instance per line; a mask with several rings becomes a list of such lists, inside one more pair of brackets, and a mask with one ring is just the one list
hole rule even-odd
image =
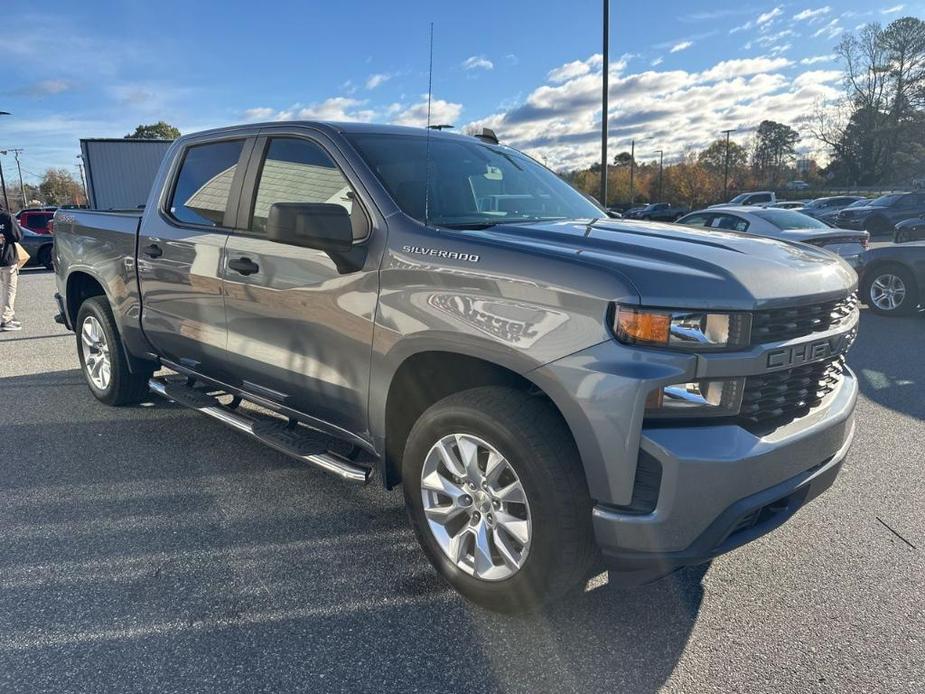
[[58, 320], [99, 400], [153, 392], [401, 484], [437, 571], [491, 609], [749, 542], [854, 434], [842, 260], [609, 220], [490, 131], [190, 135], [143, 212], [55, 229]]

